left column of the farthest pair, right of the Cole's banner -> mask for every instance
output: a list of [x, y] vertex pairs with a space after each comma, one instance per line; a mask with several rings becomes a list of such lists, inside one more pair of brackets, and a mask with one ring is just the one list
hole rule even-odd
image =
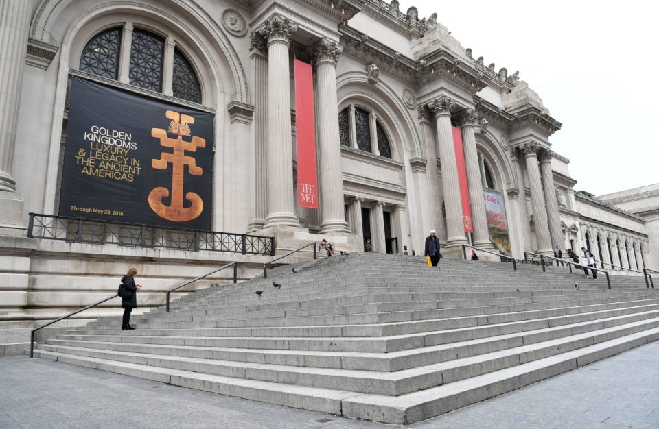
[[527, 172], [529, 173], [529, 188], [531, 188], [531, 205], [533, 206], [537, 252], [540, 254], [553, 255], [551, 236], [549, 234], [547, 221], [547, 211], [544, 206], [544, 195], [542, 194], [540, 169], [537, 166], [538, 149], [540, 149], [540, 145], [537, 143], [526, 143], [520, 147], [520, 150], [526, 158]]

